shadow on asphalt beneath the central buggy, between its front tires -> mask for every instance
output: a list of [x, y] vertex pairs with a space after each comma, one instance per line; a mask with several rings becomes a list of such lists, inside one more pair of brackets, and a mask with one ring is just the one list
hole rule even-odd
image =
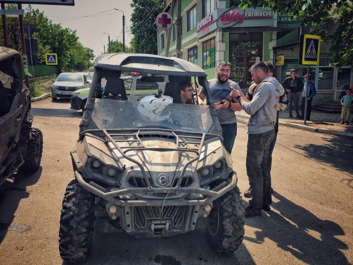
[[[63, 263], [69, 265], [68, 263]], [[254, 265], [242, 244], [230, 254], [212, 249], [204, 231], [165, 238], [136, 238], [125, 232], [94, 233], [91, 254], [85, 265]]]

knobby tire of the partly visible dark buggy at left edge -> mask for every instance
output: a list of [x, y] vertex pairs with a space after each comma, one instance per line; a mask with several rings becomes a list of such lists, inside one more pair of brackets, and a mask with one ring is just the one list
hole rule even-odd
[[31, 128], [29, 131], [27, 151], [25, 162], [20, 166], [19, 170], [26, 173], [37, 171], [42, 159], [43, 153], [43, 133], [37, 128]]

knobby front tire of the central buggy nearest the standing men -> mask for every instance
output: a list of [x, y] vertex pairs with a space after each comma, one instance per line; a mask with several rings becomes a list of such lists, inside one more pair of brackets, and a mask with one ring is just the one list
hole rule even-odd
[[220, 253], [238, 249], [243, 241], [245, 213], [239, 189], [228, 192], [213, 203], [207, 236]]

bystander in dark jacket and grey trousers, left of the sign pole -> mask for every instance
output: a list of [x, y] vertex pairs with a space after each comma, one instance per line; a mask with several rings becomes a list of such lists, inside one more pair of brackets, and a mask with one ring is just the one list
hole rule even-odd
[[289, 93], [288, 94], [288, 99], [289, 99], [289, 108], [288, 108], [289, 118], [293, 118], [292, 106], [294, 106], [294, 109], [297, 112], [297, 118], [300, 118], [301, 115], [299, 114], [298, 101], [299, 101], [299, 94], [303, 91], [304, 84], [303, 84], [302, 79], [300, 79], [299, 77], [296, 76], [297, 70], [291, 69], [290, 73], [291, 73], [291, 76], [287, 77], [282, 82], [282, 86]]

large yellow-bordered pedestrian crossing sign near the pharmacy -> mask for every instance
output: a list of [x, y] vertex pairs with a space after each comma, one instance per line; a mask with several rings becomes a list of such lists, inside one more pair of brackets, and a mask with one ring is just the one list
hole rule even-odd
[[321, 37], [304, 34], [301, 36], [300, 63], [318, 65], [320, 57]]

